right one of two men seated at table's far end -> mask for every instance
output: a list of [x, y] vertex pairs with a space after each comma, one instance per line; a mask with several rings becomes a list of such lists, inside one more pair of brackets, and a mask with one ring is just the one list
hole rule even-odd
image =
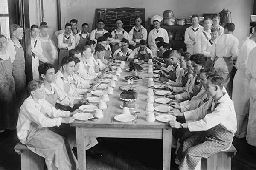
[[134, 59], [148, 61], [152, 59], [152, 51], [147, 47], [147, 41], [144, 39], [140, 40], [140, 46], [135, 48], [132, 53], [128, 56], [127, 61], [133, 61]]

